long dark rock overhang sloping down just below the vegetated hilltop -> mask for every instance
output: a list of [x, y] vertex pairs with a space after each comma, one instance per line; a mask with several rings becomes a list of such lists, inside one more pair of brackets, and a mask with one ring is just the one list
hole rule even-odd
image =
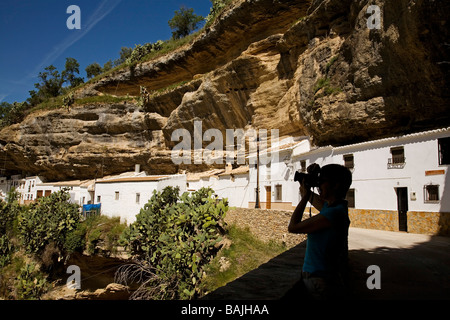
[[231, 10], [224, 11], [191, 43], [162, 58], [119, 70], [86, 87], [85, 92], [139, 95], [140, 86], [158, 90], [190, 81], [236, 59], [250, 44], [285, 32], [306, 15], [311, 2], [235, 1]]

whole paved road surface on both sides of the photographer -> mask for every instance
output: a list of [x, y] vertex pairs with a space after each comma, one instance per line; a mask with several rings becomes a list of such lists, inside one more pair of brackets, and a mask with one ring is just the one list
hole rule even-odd
[[[300, 279], [304, 255], [301, 243], [205, 300], [298, 300], [291, 288]], [[349, 260], [350, 299], [450, 299], [450, 238], [350, 228]], [[367, 287], [371, 265], [380, 268], [381, 289]]]

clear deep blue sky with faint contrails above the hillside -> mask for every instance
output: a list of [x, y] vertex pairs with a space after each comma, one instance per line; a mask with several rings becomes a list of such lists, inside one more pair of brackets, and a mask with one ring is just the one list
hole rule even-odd
[[[66, 26], [70, 5], [81, 10], [81, 29]], [[66, 58], [101, 66], [119, 57], [121, 47], [168, 40], [168, 21], [180, 6], [206, 17], [210, 0], [1, 0], [0, 102], [25, 101], [37, 75]]]

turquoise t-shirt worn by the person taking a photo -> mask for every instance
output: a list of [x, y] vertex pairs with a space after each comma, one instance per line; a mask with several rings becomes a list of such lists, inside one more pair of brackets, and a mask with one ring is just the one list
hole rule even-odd
[[350, 226], [347, 201], [333, 207], [325, 202], [319, 214], [331, 222], [331, 227], [308, 234], [303, 271], [333, 277], [347, 262]]

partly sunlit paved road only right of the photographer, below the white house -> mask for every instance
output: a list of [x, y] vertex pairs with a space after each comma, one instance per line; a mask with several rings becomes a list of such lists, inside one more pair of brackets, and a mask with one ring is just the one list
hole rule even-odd
[[[350, 228], [349, 258], [357, 299], [450, 299], [448, 237]], [[367, 288], [370, 265], [381, 289]]]

